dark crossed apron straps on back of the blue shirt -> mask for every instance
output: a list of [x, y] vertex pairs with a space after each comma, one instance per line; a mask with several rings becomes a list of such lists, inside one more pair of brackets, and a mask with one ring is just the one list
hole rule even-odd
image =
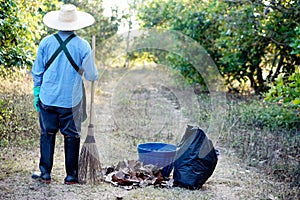
[[54, 34], [55, 38], [57, 39], [57, 41], [59, 42], [60, 46], [58, 47], [58, 49], [56, 49], [56, 51], [54, 52], [54, 54], [51, 56], [51, 58], [48, 60], [48, 62], [45, 65], [45, 71], [50, 67], [50, 65], [52, 64], [52, 62], [55, 60], [55, 58], [58, 56], [58, 54], [61, 51], [64, 51], [65, 55], [67, 56], [69, 62], [71, 63], [71, 65], [73, 66], [73, 68], [80, 74], [82, 75], [82, 71], [79, 69], [78, 65], [75, 63], [75, 61], [73, 60], [70, 52], [68, 51], [66, 45], [67, 43], [74, 38], [76, 35], [74, 33], [72, 33], [65, 41], [62, 41], [61, 37], [56, 33]]

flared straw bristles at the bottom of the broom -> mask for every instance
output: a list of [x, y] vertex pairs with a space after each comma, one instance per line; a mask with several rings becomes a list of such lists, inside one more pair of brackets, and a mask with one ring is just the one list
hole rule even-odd
[[79, 183], [98, 184], [103, 180], [99, 153], [95, 143], [84, 143], [78, 163]]

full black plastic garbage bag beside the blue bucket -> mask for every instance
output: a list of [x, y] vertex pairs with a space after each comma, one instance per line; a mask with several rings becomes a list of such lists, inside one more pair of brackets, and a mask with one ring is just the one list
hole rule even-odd
[[188, 125], [174, 159], [174, 186], [200, 189], [212, 175], [217, 162], [211, 140], [200, 128]]

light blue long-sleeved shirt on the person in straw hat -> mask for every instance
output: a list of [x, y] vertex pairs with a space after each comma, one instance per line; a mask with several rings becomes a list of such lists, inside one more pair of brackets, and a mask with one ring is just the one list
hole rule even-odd
[[[59, 31], [64, 41], [73, 32]], [[65, 53], [61, 51], [49, 68], [45, 65], [56, 49], [60, 46], [54, 35], [42, 39], [39, 44], [37, 56], [32, 67], [34, 86], [40, 86], [39, 98], [48, 106], [71, 108], [80, 103], [82, 99], [82, 78], [73, 68]], [[73, 60], [84, 72], [83, 76], [89, 81], [98, 79], [92, 50], [89, 43], [76, 36], [66, 45]]]

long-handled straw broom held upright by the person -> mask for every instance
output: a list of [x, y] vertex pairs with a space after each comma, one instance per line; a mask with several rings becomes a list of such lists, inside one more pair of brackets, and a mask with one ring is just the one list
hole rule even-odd
[[[96, 38], [92, 38], [93, 56], [95, 58]], [[92, 123], [94, 113], [94, 81], [91, 84], [91, 107], [88, 125], [88, 133], [81, 148], [78, 162], [78, 181], [79, 183], [97, 184], [103, 180], [102, 168], [99, 153], [94, 137], [94, 125]]]

